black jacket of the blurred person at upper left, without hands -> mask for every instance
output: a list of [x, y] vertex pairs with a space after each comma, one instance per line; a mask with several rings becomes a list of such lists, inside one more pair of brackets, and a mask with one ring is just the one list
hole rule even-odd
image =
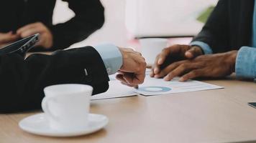
[[52, 32], [53, 46], [50, 50], [53, 51], [86, 39], [104, 24], [104, 7], [99, 0], [63, 1], [68, 2], [76, 16], [53, 25], [56, 0], [3, 0], [0, 2], [0, 32], [16, 31], [26, 24], [40, 21]]

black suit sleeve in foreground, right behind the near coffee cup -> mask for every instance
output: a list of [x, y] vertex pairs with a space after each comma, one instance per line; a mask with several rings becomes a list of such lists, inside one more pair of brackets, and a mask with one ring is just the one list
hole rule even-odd
[[[88, 75], [85, 74], [85, 69]], [[53, 84], [89, 84], [93, 94], [105, 92], [109, 77], [99, 53], [88, 46], [52, 55], [0, 56], [0, 112], [40, 109], [43, 88]]]

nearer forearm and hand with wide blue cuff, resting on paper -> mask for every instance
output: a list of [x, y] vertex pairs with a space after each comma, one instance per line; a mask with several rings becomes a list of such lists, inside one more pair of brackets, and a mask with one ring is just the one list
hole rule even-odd
[[[195, 59], [177, 61], [170, 65], [165, 80], [180, 76], [180, 81], [196, 77], [226, 77], [233, 72], [238, 78], [256, 78], [256, 48], [242, 46], [239, 51], [197, 56]], [[160, 73], [161, 74], [161, 73]]]

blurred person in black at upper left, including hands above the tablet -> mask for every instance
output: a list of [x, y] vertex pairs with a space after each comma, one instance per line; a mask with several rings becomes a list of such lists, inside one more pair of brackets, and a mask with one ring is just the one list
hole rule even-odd
[[65, 49], [86, 39], [104, 24], [104, 7], [99, 0], [63, 0], [76, 14], [52, 24], [56, 0], [4, 0], [0, 4], [0, 47], [17, 39], [40, 34], [36, 51]]

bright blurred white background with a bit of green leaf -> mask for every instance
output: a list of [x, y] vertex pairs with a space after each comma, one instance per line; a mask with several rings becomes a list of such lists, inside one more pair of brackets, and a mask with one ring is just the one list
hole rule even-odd
[[[140, 45], [137, 38], [166, 37], [169, 44], [188, 44], [204, 25], [217, 0], [101, 0], [105, 8], [104, 26], [88, 39], [70, 47], [112, 43]], [[68, 3], [58, 0], [53, 24], [74, 16]], [[181, 38], [180, 38], [181, 37]]]

